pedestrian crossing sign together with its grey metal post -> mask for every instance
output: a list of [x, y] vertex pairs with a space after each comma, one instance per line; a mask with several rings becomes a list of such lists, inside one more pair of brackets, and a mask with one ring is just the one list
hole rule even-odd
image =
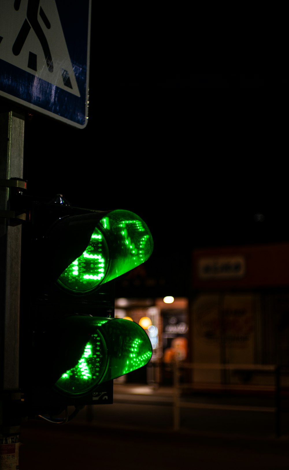
[[86, 126], [90, 16], [91, 0], [0, 2], [0, 470], [19, 468], [23, 415], [19, 326], [25, 214], [11, 201], [26, 188], [24, 112]]

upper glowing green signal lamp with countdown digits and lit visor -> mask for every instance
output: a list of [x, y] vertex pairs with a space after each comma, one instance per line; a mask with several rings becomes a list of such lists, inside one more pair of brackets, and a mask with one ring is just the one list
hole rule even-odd
[[152, 250], [152, 236], [139, 216], [130, 211], [111, 211], [95, 227], [86, 250], [57, 282], [73, 292], [89, 292], [144, 263]]

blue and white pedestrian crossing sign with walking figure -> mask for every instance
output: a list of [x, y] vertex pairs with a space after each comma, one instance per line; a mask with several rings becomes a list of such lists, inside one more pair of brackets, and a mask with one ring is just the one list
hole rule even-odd
[[87, 123], [91, 0], [1, 0], [0, 95]]

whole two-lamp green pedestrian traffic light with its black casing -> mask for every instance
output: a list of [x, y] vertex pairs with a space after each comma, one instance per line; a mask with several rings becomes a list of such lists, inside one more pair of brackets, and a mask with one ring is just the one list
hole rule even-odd
[[126, 210], [33, 201], [23, 239], [21, 388], [27, 414], [112, 403], [113, 379], [148, 363], [149, 337], [114, 318], [114, 280], [145, 262], [153, 240]]

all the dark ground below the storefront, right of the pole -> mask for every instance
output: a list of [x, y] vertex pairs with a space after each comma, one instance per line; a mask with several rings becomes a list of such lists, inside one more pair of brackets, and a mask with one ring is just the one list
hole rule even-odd
[[63, 426], [24, 423], [20, 468], [289, 469], [289, 416], [276, 436], [274, 397], [186, 394], [177, 431], [173, 400], [169, 386], [116, 382], [112, 405], [85, 407]]

